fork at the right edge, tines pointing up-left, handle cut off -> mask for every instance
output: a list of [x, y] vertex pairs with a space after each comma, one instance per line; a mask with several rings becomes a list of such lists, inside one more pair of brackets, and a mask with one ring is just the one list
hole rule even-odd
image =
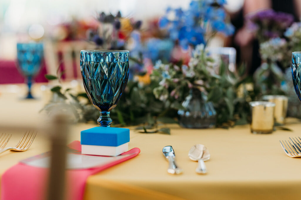
[[301, 138], [298, 137], [300, 140], [298, 138], [296, 138], [296, 140], [295, 140], [295, 138], [293, 138], [293, 139], [289, 138], [293, 144], [290, 143], [289, 140], [288, 140], [288, 143], [286, 140], [284, 140], [286, 144], [283, 142], [283, 140], [282, 140], [282, 142], [279, 140], [284, 152], [289, 157], [292, 157], [292, 158], [301, 157], [301, 142], [300, 142]]

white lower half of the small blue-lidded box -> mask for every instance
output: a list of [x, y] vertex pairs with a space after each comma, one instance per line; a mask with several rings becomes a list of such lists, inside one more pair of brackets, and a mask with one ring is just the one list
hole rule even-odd
[[82, 145], [82, 154], [98, 155], [98, 156], [118, 156], [129, 150], [129, 142], [117, 147]]

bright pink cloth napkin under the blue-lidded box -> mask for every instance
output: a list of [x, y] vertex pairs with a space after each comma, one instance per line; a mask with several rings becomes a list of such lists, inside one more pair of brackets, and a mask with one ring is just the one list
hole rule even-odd
[[[79, 141], [73, 141], [69, 148], [81, 151]], [[96, 174], [111, 166], [129, 160], [140, 153], [139, 148], [133, 148], [121, 155], [133, 154], [107, 165], [94, 169], [67, 170], [67, 198], [68, 200], [81, 200], [85, 192], [88, 176]], [[1, 200], [43, 200], [47, 189], [47, 168], [27, 166], [22, 163], [8, 169], [1, 178]]]

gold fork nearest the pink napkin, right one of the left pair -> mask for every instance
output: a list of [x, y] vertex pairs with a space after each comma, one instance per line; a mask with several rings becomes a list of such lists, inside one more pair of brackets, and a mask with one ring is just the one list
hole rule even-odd
[[36, 134], [37, 134], [37, 132], [30, 133], [30, 131], [26, 131], [24, 133], [24, 135], [22, 136], [22, 138], [20, 139], [20, 141], [16, 144], [16, 146], [4, 148], [4, 149], [0, 150], [0, 154], [3, 153], [4, 151], [8, 151], [8, 150], [26, 151], [30, 147], [30, 145], [33, 143], [33, 140], [35, 139]]

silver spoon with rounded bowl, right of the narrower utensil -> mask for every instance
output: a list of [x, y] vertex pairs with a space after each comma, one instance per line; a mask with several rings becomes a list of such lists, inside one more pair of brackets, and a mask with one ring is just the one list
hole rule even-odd
[[204, 161], [210, 159], [210, 153], [204, 145], [197, 144], [192, 146], [189, 150], [188, 156], [191, 160], [198, 161], [197, 169], [195, 170], [195, 172], [197, 172], [198, 174], [207, 173]]

